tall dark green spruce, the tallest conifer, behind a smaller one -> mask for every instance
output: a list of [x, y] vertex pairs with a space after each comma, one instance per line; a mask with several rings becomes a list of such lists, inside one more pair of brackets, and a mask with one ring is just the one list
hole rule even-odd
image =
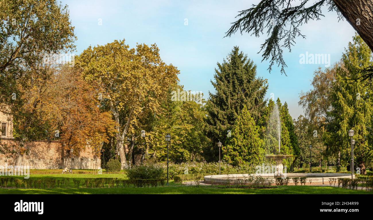
[[[206, 133], [213, 146], [218, 141], [226, 143], [227, 131], [232, 129], [244, 106], [247, 106], [254, 120], [260, 117], [266, 106], [264, 96], [268, 88], [267, 80], [256, 76], [253, 61], [239, 52], [238, 47], [234, 47], [228, 59], [222, 64], [217, 63], [217, 66], [215, 82], [211, 81], [216, 93], [209, 93], [206, 104]], [[217, 155], [216, 147], [204, 150], [208, 161], [216, 160]]]

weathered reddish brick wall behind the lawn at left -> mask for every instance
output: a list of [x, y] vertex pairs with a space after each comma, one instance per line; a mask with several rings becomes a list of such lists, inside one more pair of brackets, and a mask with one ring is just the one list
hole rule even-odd
[[[1, 138], [1, 142], [8, 146], [19, 144], [13, 138]], [[88, 147], [73, 157], [70, 157], [69, 150], [65, 150], [60, 141], [32, 141], [26, 143], [26, 148], [29, 152], [23, 155], [22, 165], [29, 165], [30, 169], [63, 169], [65, 166], [69, 169], [97, 169], [101, 165], [100, 157], [94, 156]], [[0, 154], [0, 165], [15, 165], [15, 161], [16, 157], [6, 159], [5, 155]]]

